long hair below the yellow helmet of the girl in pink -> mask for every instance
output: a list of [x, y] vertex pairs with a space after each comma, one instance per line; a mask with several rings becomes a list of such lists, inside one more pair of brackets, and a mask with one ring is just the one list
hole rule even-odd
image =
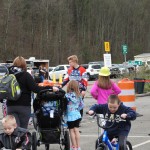
[[102, 89], [110, 89], [112, 86], [109, 76], [99, 76], [97, 84]]

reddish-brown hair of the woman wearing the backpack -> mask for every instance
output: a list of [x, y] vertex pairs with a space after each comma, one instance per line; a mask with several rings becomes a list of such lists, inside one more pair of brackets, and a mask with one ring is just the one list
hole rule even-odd
[[22, 68], [23, 70], [27, 71], [27, 63], [22, 56], [18, 56], [14, 59], [13, 66]]

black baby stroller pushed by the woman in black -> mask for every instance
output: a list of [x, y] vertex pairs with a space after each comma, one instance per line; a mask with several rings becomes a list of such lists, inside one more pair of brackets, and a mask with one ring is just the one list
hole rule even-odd
[[61, 150], [70, 150], [69, 132], [63, 126], [67, 103], [64, 95], [62, 89], [58, 92], [45, 89], [34, 100], [33, 125], [37, 132], [32, 133], [32, 150], [37, 150], [41, 144], [45, 144], [46, 150], [50, 144], [60, 144]]

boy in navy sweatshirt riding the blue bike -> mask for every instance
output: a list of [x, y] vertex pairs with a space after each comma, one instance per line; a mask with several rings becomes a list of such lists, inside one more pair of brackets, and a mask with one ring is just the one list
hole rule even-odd
[[[125, 119], [125, 121], [116, 120], [113, 126], [107, 129], [107, 133], [110, 140], [114, 137], [118, 137], [119, 150], [126, 150], [127, 136], [131, 128], [130, 120], [136, 119], [135, 111], [123, 105], [117, 95], [110, 95], [107, 104], [95, 104], [90, 108], [88, 114], [93, 115], [94, 113], [103, 114], [104, 118], [109, 118], [106, 122], [106, 126], [110, 126], [112, 122], [109, 122], [109, 120], [113, 120], [116, 117]], [[102, 136], [100, 136], [99, 141], [102, 141]]]

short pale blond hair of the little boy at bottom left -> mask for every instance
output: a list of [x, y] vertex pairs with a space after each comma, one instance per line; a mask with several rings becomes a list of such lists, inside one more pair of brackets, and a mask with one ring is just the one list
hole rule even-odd
[[2, 124], [16, 125], [16, 119], [13, 115], [7, 115], [2, 119]]

